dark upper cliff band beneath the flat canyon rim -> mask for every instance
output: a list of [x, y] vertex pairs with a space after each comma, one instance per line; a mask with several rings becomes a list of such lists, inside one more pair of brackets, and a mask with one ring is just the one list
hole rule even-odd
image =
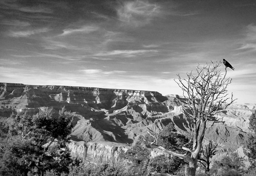
[[[36, 109], [42, 106], [60, 109], [65, 106], [73, 112], [84, 115], [92, 110], [108, 109], [113, 112], [115, 109], [126, 106], [128, 102], [159, 104], [166, 100], [166, 97], [158, 92], [149, 91], [0, 83], [0, 100], [2, 106], [11, 107], [14, 111], [22, 111], [24, 108]], [[11, 110], [9, 108], [6, 111]]]

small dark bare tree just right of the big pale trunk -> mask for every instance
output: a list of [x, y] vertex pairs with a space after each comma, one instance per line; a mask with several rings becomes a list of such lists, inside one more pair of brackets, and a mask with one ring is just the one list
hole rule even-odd
[[210, 159], [216, 155], [218, 144], [212, 140], [209, 141], [209, 144], [205, 145], [200, 153], [198, 162], [204, 167], [205, 172], [210, 170]]

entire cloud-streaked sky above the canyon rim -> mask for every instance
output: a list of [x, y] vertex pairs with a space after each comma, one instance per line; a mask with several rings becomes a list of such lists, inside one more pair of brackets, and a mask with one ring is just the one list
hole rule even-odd
[[0, 82], [163, 95], [225, 58], [228, 92], [256, 103], [256, 1], [1, 0], [0, 46]]

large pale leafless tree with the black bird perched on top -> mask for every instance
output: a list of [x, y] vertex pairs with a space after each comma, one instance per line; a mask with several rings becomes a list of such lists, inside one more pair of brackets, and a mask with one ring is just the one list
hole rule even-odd
[[[182, 79], [178, 74], [178, 83], [183, 91], [185, 101], [181, 102], [184, 115], [191, 121], [191, 145], [192, 147], [182, 149], [186, 150], [186, 154], [182, 155], [158, 146], [166, 153], [184, 159], [188, 162], [186, 175], [194, 176], [196, 174], [198, 155], [202, 148], [205, 130], [208, 127], [221, 121], [218, 114], [226, 109], [236, 99], [233, 99], [227, 93], [227, 86], [231, 83], [230, 78], [226, 78], [221, 73], [221, 61], [211, 62], [206, 65], [198, 65], [195, 76], [192, 71], [187, 73], [187, 79]], [[209, 123], [211, 122], [211, 123]], [[208, 125], [208, 126], [207, 126]]]

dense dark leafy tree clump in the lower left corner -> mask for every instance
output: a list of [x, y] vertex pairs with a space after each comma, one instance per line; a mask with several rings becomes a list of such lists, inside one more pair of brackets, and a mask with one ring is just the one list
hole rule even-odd
[[[0, 141], [0, 171], [12, 175], [56, 175], [68, 173], [71, 156], [68, 147], [73, 114], [65, 108], [58, 114], [41, 109], [31, 117], [27, 113], [12, 114], [7, 138]], [[5, 130], [6, 131], [6, 130]]]

